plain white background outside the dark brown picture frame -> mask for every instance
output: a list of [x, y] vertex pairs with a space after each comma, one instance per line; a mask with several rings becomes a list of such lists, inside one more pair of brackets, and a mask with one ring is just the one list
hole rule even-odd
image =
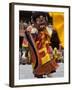
[[[39, 4], [55, 4], [55, 5], [72, 5], [72, 0], [0, 0], [0, 90], [10, 90], [8, 86], [9, 81], [9, 3], [10, 2], [25, 2], [25, 3], [39, 3]], [[72, 9], [72, 7], [71, 7]], [[72, 11], [71, 11], [72, 15]], [[72, 18], [71, 18], [72, 21]], [[71, 28], [72, 29], [72, 28]], [[72, 32], [71, 32], [72, 33]], [[72, 36], [71, 36], [72, 38]], [[31, 89], [31, 90], [70, 90], [72, 85], [53, 85], [53, 86], [39, 86], [39, 87], [23, 87], [14, 88]]]

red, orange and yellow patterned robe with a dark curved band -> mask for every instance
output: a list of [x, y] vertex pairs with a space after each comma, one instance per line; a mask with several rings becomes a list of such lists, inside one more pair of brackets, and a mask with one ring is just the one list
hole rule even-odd
[[55, 71], [58, 64], [51, 58], [52, 48], [46, 30], [39, 31], [38, 34], [26, 32], [29, 48], [31, 51], [31, 62], [35, 75], [48, 75]]

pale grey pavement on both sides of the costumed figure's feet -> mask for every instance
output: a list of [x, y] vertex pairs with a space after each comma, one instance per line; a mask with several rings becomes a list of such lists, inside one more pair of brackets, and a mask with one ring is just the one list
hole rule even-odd
[[[32, 79], [35, 78], [32, 71], [32, 65], [22, 65], [19, 66], [19, 78], [20, 79]], [[64, 63], [59, 63], [59, 68], [55, 73], [51, 74], [50, 78], [53, 77], [63, 77], [64, 76]], [[47, 77], [47, 76], [46, 76]], [[49, 77], [47, 77], [49, 78]]]

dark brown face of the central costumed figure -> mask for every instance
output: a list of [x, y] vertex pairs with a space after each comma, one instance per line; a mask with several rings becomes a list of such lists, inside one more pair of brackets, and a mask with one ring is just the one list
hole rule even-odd
[[39, 17], [36, 18], [36, 22], [35, 22], [37, 28], [39, 30], [42, 30], [45, 28], [46, 26], [46, 20], [45, 20], [45, 17], [40, 15]]

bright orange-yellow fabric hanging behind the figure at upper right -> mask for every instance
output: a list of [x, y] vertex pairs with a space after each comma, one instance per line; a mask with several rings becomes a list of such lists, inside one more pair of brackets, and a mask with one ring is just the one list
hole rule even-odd
[[53, 27], [56, 29], [61, 45], [64, 47], [64, 13], [63, 12], [50, 12], [53, 17]]

